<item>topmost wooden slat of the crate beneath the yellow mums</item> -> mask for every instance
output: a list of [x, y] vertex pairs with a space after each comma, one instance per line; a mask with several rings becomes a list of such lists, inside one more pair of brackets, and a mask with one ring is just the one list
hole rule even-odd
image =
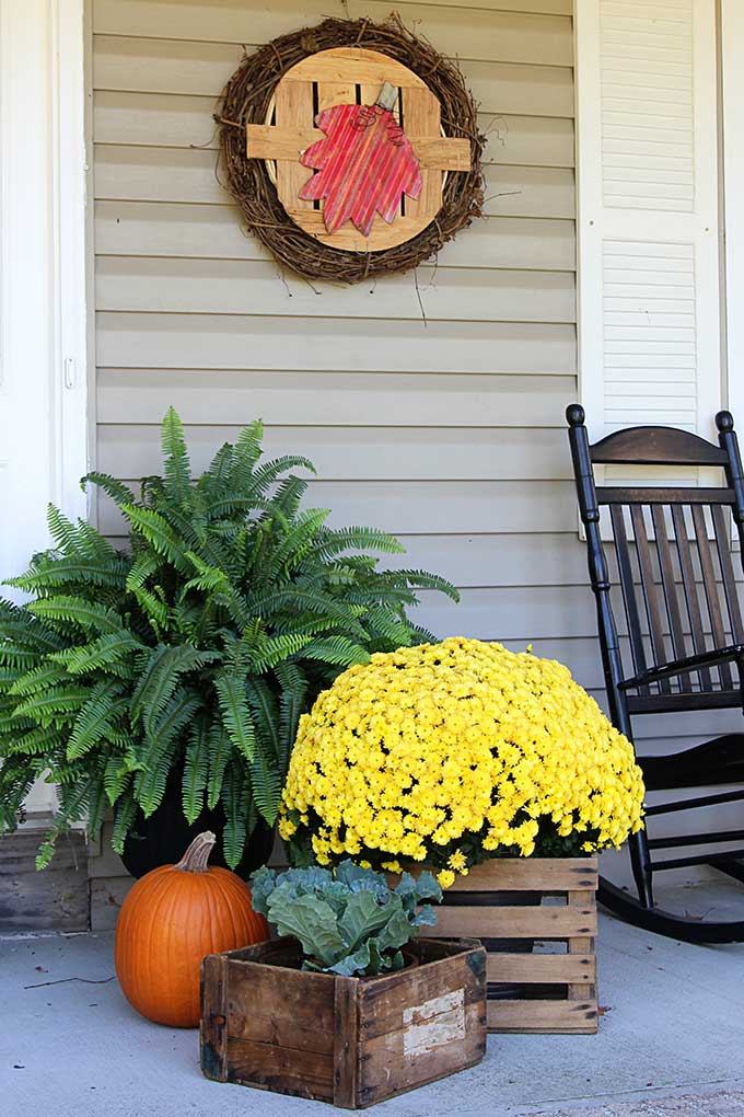
[[525, 891], [549, 892], [568, 891], [573, 888], [597, 888], [597, 858], [549, 858], [520, 857], [494, 858], [475, 865], [466, 877], [457, 877], [456, 888], [460, 892], [487, 891]]

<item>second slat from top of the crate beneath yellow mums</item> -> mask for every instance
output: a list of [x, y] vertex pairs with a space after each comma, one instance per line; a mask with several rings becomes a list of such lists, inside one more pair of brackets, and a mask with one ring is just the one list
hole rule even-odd
[[437, 935], [479, 938], [569, 938], [597, 934], [593, 907], [441, 907]]

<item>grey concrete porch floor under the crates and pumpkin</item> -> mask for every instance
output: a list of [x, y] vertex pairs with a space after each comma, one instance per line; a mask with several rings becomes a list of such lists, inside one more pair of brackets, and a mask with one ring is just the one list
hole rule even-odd
[[[721, 886], [709, 904], [705, 889], [696, 889], [694, 900], [703, 909], [726, 904]], [[689, 946], [603, 916], [598, 954], [605, 1006], [598, 1035], [492, 1035], [481, 1066], [377, 1111], [744, 1117], [744, 945]], [[113, 974], [112, 933], [0, 942], [3, 1117], [331, 1111], [321, 1102], [207, 1081], [197, 1033], [142, 1020], [116, 980], [106, 981]], [[70, 977], [86, 981], [42, 984]]]

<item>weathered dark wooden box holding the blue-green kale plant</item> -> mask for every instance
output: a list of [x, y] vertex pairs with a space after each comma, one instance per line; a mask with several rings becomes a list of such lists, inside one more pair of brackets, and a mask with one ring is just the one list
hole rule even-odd
[[383, 977], [300, 971], [292, 939], [202, 963], [207, 1078], [359, 1109], [480, 1062], [485, 951], [410, 944], [417, 964]]

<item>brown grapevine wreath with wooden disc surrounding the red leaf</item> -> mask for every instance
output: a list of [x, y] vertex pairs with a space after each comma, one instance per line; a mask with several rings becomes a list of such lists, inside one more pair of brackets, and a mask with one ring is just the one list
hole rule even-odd
[[[311, 155], [311, 152], [303, 150], [303, 137], [312, 135], [313, 116], [316, 123], [322, 126], [323, 117], [341, 111], [331, 109], [323, 116], [313, 112], [318, 102], [317, 82], [315, 105], [310, 102], [309, 106], [307, 103], [305, 106], [306, 115], [302, 118], [303, 123], [307, 121], [305, 128], [282, 131], [273, 127], [278, 117], [276, 107], [278, 90], [287, 89], [286, 85], [282, 88], [284, 76], [289, 70], [292, 70], [292, 78], [306, 71], [311, 75], [316, 56], [319, 57], [320, 64], [325, 64], [326, 73], [330, 63], [336, 60], [335, 57], [328, 56], [340, 56], [341, 61], [347, 65], [347, 79], [350, 73], [351, 82], [355, 80], [354, 65], [357, 64], [359, 73], [356, 79], [357, 104], [361, 107], [356, 111], [361, 113], [363, 117], [365, 113], [368, 115], [375, 111], [378, 114], [383, 113], [383, 108], [377, 109], [376, 105], [385, 105], [385, 89], [387, 88], [389, 96], [389, 83], [385, 80], [376, 103], [375, 93], [370, 95], [370, 86], [364, 83], [365, 79], [371, 82], [377, 70], [383, 78], [386, 78], [384, 73], [386, 61], [390, 68], [390, 80], [394, 86], [400, 84], [396, 83], [396, 75], [404, 73], [405, 67], [410, 76], [409, 84], [418, 86], [415, 92], [427, 98], [429, 104], [436, 103], [435, 114], [429, 113], [429, 123], [432, 115], [437, 122], [436, 135], [429, 132], [422, 141], [426, 145], [426, 154], [422, 155], [421, 165], [441, 170], [424, 171], [424, 191], [421, 199], [416, 192], [421, 191], [421, 175], [418, 185], [409, 197], [404, 197], [402, 190], [403, 204], [399, 207], [399, 213], [393, 219], [388, 213], [385, 221], [381, 217], [376, 217], [371, 236], [364, 231], [357, 232], [350, 221], [338, 231], [329, 231], [327, 216], [326, 227], [322, 227], [320, 201], [301, 200], [320, 197], [318, 190], [315, 193], [309, 193], [307, 188], [302, 190], [302, 181], [307, 180], [308, 175], [307, 171], [303, 172], [303, 166], [319, 170], [317, 162], [306, 161], [306, 155]], [[305, 60], [308, 63], [305, 64]], [[375, 60], [378, 64], [377, 69]], [[291, 85], [292, 90], [300, 88], [297, 80]], [[308, 83], [308, 87], [312, 88], [312, 83]], [[346, 88], [349, 88], [348, 80]], [[354, 85], [350, 88], [352, 89]], [[359, 90], [364, 101], [360, 101]], [[395, 90], [403, 98], [405, 90]], [[345, 99], [348, 101], [348, 96]], [[283, 102], [286, 101], [284, 97]], [[396, 130], [395, 123], [388, 122], [393, 125], [392, 128], [388, 126], [388, 134], [398, 145], [408, 144], [403, 130], [415, 128], [414, 112], [412, 111], [406, 118], [403, 101], [402, 105], [403, 117], [398, 117], [402, 126]], [[387, 107], [389, 108], [389, 103]], [[354, 106], [347, 105], [345, 111], [351, 113]], [[395, 15], [384, 23], [374, 23], [369, 20], [326, 19], [317, 27], [292, 31], [273, 39], [243, 58], [223, 90], [215, 118], [220, 126], [221, 170], [228, 189], [240, 206], [248, 230], [257, 236], [281, 264], [307, 279], [340, 280], [351, 284], [387, 273], [407, 271], [435, 256], [446, 241], [470, 225], [474, 217], [481, 214], [483, 207], [481, 161], [484, 137], [479, 132], [475, 102], [457, 66], [445, 59], [431, 44], [408, 31]], [[297, 120], [296, 113], [291, 122], [297, 123]], [[407, 124], [409, 128], [406, 128]], [[298, 150], [296, 153], [290, 153], [294, 159], [291, 172], [284, 170], [288, 165], [286, 162], [281, 164], [284, 183], [288, 181], [288, 174], [293, 175], [289, 180], [289, 191], [287, 185], [282, 188], [281, 183], [278, 189], [277, 169], [280, 164], [272, 162], [269, 147], [271, 142], [276, 142], [271, 140], [272, 133], [283, 141], [284, 160], [288, 159], [288, 144], [291, 145], [292, 137], [296, 139], [294, 146]], [[313, 139], [318, 135], [316, 132]], [[316, 143], [315, 149], [321, 150], [321, 145]], [[422, 151], [424, 147], [419, 146], [417, 153], [421, 154]], [[417, 153], [412, 152], [412, 159], [416, 160]], [[262, 154], [265, 157], [261, 157]], [[428, 163], [425, 162], [427, 157]], [[409, 181], [414, 178], [415, 175], [409, 175]], [[316, 175], [316, 181], [319, 179], [320, 173]], [[428, 204], [428, 209], [424, 209], [424, 201]], [[383, 213], [381, 207], [378, 207], [377, 212]], [[418, 222], [413, 217], [416, 212], [419, 213]], [[361, 229], [356, 220], [355, 223], [357, 229]]]

